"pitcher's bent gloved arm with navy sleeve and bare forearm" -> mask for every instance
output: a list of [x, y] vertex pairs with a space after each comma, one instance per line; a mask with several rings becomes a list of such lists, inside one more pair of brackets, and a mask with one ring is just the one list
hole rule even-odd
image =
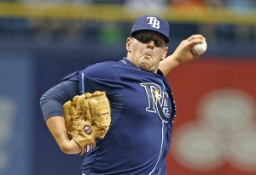
[[44, 120], [60, 149], [66, 154], [79, 154], [80, 147], [68, 139], [63, 104], [79, 93], [78, 82], [65, 81], [50, 88], [40, 99]]

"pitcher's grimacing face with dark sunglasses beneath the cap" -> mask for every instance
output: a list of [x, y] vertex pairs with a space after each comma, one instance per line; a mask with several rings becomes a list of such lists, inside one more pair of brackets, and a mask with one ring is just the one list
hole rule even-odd
[[126, 42], [127, 59], [140, 69], [156, 73], [168, 47], [164, 37], [154, 31], [139, 31]]

